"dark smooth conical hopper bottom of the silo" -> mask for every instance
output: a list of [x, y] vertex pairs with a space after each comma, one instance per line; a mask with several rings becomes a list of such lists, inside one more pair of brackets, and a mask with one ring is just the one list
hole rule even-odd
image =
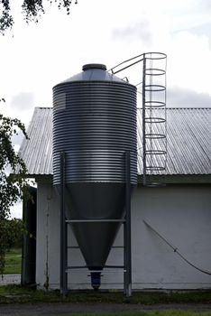
[[[70, 183], [67, 185], [67, 218], [93, 220], [72, 223], [78, 246], [90, 271], [102, 270], [124, 218], [124, 183]], [[97, 222], [95, 222], [97, 220]], [[98, 222], [98, 220], [102, 220]], [[95, 274], [92, 274], [95, 278]]]

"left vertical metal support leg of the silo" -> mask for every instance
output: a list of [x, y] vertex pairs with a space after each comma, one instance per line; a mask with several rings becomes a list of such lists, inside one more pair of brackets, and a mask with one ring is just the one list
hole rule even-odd
[[65, 153], [60, 153], [60, 293], [68, 291], [67, 224], [65, 216]]

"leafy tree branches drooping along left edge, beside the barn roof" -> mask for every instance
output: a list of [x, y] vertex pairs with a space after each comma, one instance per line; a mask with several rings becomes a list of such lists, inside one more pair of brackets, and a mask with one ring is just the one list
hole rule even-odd
[[[5, 99], [0, 101], [5, 102]], [[28, 192], [26, 167], [23, 159], [15, 153], [12, 143], [13, 135], [18, 135], [20, 131], [27, 138], [25, 127], [19, 119], [0, 114], [0, 274], [4, 272], [10, 234], [6, 219], [10, 216], [10, 208]]]

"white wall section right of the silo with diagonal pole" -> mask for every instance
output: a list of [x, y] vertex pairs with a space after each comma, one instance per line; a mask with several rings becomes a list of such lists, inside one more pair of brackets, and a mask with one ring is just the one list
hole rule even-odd
[[146, 218], [195, 265], [211, 272], [210, 187], [140, 188], [133, 197], [133, 288], [211, 287], [142, 222]]

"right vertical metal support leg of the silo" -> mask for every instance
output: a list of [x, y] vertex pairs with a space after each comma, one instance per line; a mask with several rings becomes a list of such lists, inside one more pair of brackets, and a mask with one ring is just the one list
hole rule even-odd
[[125, 153], [124, 294], [132, 295], [130, 152]]

